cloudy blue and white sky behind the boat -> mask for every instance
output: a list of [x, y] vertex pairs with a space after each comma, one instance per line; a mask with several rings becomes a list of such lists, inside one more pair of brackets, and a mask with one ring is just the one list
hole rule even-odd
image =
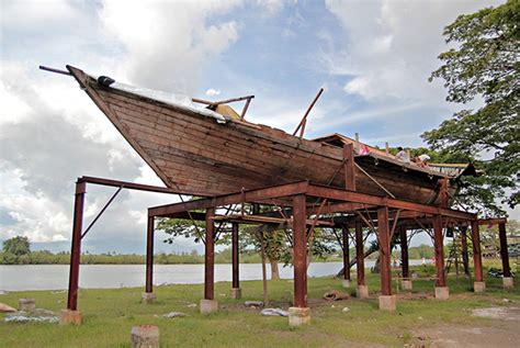
[[[70, 77], [39, 65], [211, 100], [255, 94], [247, 119], [287, 132], [324, 88], [306, 137], [419, 146], [464, 108], [428, 82], [448, 49], [443, 27], [501, 2], [0, 0], [0, 240], [68, 250], [78, 177], [161, 186]], [[86, 224], [112, 193], [88, 187]], [[174, 201], [124, 191], [83, 250], [144, 254], [147, 207]], [[163, 238], [157, 251], [202, 250]]]

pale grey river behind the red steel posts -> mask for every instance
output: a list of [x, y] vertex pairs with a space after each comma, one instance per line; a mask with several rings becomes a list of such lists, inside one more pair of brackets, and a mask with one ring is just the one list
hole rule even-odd
[[[420, 265], [410, 260], [410, 265]], [[374, 266], [374, 260], [365, 260], [365, 267]], [[313, 262], [309, 277], [336, 274], [342, 262]], [[61, 290], [68, 287], [67, 265], [0, 265], [0, 290]], [[268, 265], [268, 274], [270, 267]], [[260, 263], [240, 265], [240, 280], [259, 280], [262, 277]], [[293, 278], [292, 267], [280, 265], [280, 277]], [[231, 265], [215, 265], [215, 281], [230, 281]], [[204, 265], [155, 265], [154, 284], [193, 284], [204, 282]], [[80, 267], [80, 288], [135, 288], [144, 287], [144, 265], [83, 265]]]

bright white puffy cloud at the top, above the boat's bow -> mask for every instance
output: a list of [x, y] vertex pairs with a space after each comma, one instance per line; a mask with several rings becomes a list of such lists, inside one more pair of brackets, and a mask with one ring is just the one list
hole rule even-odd
[[106, 33], [125, 50], [133, 83], [192, 94], [205, 64], [238, 40], [235, 21], [210, 23], [239, 1], [104, 1]]

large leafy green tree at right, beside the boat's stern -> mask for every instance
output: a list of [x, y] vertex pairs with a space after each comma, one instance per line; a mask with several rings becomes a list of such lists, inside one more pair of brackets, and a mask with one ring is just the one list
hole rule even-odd
[[439, 56], [443, 65], [430, 77], [444, 79], [450, 102], [483, 101], [482, 108], [461, 110], [422, 137], [432, 148], [475, 158], [484, 175], [467, 180], [461, 200], [487, 214], [505, 214], [497, 201], [515, 207], [520, 200], [518, 23], [518, 0], [460, 15], [443, 32], [456, 48]]

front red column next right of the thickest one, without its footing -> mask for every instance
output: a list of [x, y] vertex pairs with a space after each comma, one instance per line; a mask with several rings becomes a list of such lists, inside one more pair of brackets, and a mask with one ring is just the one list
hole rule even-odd
[[381, 293], [387, 296], [392, 295], [391, 240], [387, 206], [377, 209], [377, 225], [381, 258]]

